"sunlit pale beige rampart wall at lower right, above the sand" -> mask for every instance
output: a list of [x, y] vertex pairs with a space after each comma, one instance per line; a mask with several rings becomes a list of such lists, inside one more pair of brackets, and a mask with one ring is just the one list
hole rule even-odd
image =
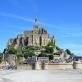
[[[76, 69], [82, 69], [82, 63], [76, 63]], [[36, 69], [41, 70], [41, 63], [38, 62]], [[73, 69], [73, 63], [46, 63], [45, 70], [55, 70], [55, 69]]]

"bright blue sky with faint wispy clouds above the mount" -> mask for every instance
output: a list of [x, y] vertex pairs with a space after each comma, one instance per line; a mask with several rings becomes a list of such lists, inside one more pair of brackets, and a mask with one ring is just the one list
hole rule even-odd
[[0, 52], [9, 38], [32, 30], [36, 16], [56, 45], [82, 56], [82, 0], [0, 0]]

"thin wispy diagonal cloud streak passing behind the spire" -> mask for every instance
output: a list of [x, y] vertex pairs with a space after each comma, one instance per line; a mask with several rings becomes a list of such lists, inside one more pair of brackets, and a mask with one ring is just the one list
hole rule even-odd
[[[23, 21], [26, 21], [26, 22], [34, 23], [34, 20], [33, 20], [33, 19], [25, 18], [25, 17], [22, 17], [22, 16], [10, 14], [10, 13], [0, 12], [0, 15], [1, 15], [1, 16], [5, 16], [5, 17], [11, 17], [11, 18], [20, 19], [20, 20], [23, 20]], [[53, 29], [61, 30], [61, 29], [62, 29], [62, 27], [57, 26], [57, 25], [53, 25], [53, 24], [49, 24], [49, 23], [43, 23], [43, 22], [38, 22], [38, 23], [39, 23], [40, 25], [42, 25], [43, 27], [46, 26], [46, 27], [48, 27], [48, 28], [52, 28], [51, 30], [53, 30]]]

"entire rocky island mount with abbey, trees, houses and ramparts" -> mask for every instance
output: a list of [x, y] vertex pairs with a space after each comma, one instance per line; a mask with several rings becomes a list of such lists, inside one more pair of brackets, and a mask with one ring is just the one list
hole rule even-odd
[[[81, 58], [79, 58], [81, 62]], [[32, 30], [10, 38], [3, 51], [3, 69], [77, 69], [76, 56], [61, 49], [56, 39], [35, 18]], [[3, 65], [4, 65], [3, 64]]]

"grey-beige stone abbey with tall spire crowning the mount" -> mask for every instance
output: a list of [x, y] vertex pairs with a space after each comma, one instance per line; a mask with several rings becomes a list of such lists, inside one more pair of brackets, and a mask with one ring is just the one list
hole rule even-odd
[[49, 42], [55, 44], [54, 36], [50, 37], [47, 30], [38, 25], [38, 20], [35, 18], [33, 30], [24, 31], [23, 34], [18, 35], [14, 39], [8, 40], [8, 46], [14, 48], [25, 46], [46, 46]]

